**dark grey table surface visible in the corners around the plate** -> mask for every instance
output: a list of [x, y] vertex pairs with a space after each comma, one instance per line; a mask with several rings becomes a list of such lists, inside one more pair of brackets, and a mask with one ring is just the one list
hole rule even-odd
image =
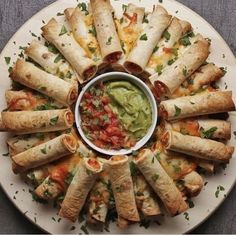
[[[236, 54], [236, 0], [179, 0], [205, 18]], [[0, 51], [17, 29], [54, 0], [0, 0]], [[233, 79], [233, 78], [232, 78]], [[1, 180], [0, 180], [1, 181]], [[13, 206], [0, 187], [0, 233], [42, 234]], [[236, 234], [236, 188], [194, 234]]]

